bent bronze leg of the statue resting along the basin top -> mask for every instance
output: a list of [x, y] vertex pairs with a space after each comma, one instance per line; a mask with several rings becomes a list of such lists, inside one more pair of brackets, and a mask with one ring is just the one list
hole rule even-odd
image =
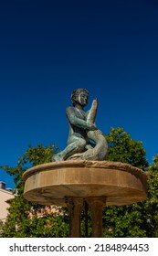
[[75, 142], [68, 144], [68, 146], [61, 152], [56, 155], [53, 155], [52, 161], [65, 161], [70, 155], [74, 155], [76, 153], [84, 152], [86, 146], [86, 141], [78, 138]]

